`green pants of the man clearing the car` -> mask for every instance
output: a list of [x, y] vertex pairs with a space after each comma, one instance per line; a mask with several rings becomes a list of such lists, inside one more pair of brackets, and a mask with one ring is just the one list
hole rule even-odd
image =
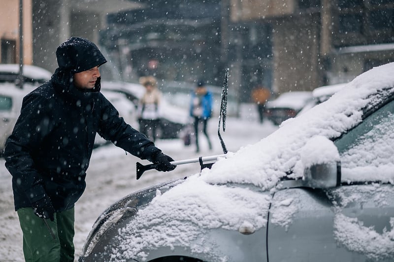
[[[17, 210], [26, 262], [74, 261], [74, 208], [55, 213], [55, 220], [37, 217], [33, 208]], [[49, 227], [49, 228], [48, 228]]]

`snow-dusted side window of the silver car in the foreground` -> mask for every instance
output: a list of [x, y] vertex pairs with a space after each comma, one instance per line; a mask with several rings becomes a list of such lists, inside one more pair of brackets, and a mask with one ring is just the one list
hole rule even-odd
[[[373, 172], [388, 181], [394, 167], [394, 101], [381, 107], [336, 141], [342, 181], [364, 181]], [[369, 174], [369, 175], [368, 175]]]

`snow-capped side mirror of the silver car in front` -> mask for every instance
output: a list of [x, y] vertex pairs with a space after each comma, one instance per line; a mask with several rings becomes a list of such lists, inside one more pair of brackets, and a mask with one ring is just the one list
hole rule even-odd
[[324, 136], [315, 136], [301, 151], [306, 187], [331, 188], [341, 183], [341, 162], [334, 143]]

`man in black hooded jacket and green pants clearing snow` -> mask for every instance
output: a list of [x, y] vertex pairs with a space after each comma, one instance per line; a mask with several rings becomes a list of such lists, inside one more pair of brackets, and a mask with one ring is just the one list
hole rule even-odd
[[85, 190], [96, 133], [170, 171], [173, 161], [126, 124], [99, 92], [97, 46], [71, 37], [61, 44], [52, 79], [27, 95], [5, 146], [26, 261], [74, 261], [74, 203]]

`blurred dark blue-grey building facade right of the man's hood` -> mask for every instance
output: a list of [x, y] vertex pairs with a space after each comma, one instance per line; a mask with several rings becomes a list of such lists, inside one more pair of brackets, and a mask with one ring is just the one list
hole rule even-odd
[[120, 54], [124, 80], [155, 75], [169, 81], [194, 82], [203, 77], [217, 82], [220, 0], [140, 2], [144, 4], [140, 9], [108, 15], [108, 29], [101, 34], [108, 51]]

